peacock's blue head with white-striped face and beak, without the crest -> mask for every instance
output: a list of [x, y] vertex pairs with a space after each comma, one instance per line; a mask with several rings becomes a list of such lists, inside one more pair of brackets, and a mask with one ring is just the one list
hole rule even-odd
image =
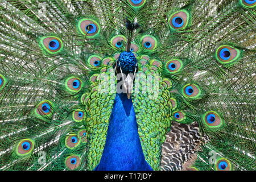
[[130, 99], [133, 90], [135, 74], [138, 72], [137, 59], [132, 52], [122, 52], [117, 63], [114, 64], [115, 75], [122, 80], [122, 93], [127, 94]]

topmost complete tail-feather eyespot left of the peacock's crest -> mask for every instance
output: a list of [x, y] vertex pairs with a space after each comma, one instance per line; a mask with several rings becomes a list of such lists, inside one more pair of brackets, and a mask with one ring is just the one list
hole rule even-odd
[[94, 19], [83, 18], [79, 20], [77, 28], [81, 34], [93, 38], [100, 33], [100, 25]]

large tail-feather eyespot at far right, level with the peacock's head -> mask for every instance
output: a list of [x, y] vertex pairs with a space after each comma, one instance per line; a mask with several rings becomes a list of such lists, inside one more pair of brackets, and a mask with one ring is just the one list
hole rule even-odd
[[238, 60], [240, 50], [232, 46], [220, 46], [216, 50], [216, 58], [221, 64], [230, 64]]

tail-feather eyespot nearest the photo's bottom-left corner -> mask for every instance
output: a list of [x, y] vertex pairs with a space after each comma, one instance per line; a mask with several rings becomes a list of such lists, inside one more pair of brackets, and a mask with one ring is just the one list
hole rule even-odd
[[28, 155], [34, 149], [34, 141], [31, 139], [23, 139], [16, 148], [16, 154], [20, 156]]

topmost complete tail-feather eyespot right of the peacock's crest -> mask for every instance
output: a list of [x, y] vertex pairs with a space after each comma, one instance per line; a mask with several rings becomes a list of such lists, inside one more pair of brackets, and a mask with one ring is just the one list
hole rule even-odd
[[175, 13], [171, 14], [168, 22], [172, 30], [183, 30], [188, 26], [189, 13], [187, 10], [176, 11]]

